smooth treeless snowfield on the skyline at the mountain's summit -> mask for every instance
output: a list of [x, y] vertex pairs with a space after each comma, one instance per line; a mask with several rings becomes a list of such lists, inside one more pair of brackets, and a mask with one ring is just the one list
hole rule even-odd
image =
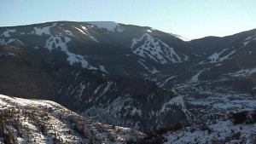
[[123, 32], [124, 29], [117, 22], [113, 21], [87, 21], [98, 28], [106, 28], [109, 32]]

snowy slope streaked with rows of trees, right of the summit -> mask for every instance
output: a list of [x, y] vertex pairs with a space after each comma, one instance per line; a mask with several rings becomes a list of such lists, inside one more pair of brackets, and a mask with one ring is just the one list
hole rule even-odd
[[[142, 45], [137, 45], [142, 41]], [[166, 64], [168, 60], [171, 60], [172, 63], [182, 62], [172, 47], [160, 41], [160, 39], [150, 36], [148, 33], [143, 34], [140, 38], [132, 39], [131, 49], [134, 54], [141, 55], [144, 58], [148, 57], [161, 64]]]

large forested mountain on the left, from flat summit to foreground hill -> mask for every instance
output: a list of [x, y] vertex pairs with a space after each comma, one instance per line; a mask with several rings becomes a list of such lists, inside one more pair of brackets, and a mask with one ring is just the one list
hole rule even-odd
[[[149, 27], [90, 23], [2, 28], [1, 93], [56, 101], [101, 122], [143, 131], [185, 123], [180, 107], [162, 110], [174, 93], [144, 77], [156, 67], [183, 63], [188, 43]], [[140, 48], [145, 57], [133, 51]]]

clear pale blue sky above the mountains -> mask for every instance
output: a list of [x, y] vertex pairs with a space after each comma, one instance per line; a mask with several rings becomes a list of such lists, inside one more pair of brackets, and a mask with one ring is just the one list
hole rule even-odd
[[256, 28], [255, 0], [0, 0], [0, 26], [116, 21], [195, 39]]

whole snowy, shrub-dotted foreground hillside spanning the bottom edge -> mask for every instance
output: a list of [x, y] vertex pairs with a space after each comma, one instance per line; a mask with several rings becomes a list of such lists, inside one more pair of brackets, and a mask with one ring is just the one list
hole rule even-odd
[[145, 135], [98, 123], [53, 101], [0, 95], [0, 143], [255, 143], [256, 112], [230, 112], [221, 120], [177, 123]]

